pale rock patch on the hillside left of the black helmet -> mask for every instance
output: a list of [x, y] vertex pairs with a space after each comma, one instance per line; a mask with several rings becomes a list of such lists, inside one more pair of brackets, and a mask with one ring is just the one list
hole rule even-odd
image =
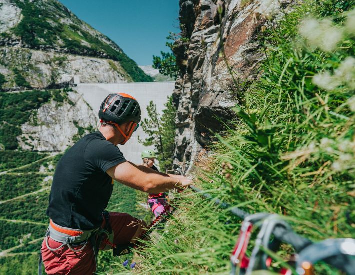
[[62, 152], [76, 142], [80, 130], [88, 133], [97, 125], [96, 116], [82, 95], [68, 92], [68, 100], [63, 103], [52, 100], [42, 105], [21, 126], [22, 134], [17, 140], [24, 150]]

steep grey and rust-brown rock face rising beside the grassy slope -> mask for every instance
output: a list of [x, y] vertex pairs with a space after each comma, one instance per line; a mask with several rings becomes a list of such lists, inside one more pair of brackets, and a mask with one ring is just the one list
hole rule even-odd
[[231, 108], [244, 91], [242, 83], [257, 78], [264, 57], [257, 35], [267, 27], [266, 18], [289, 8], [290, 2], [180, 0], [183, 39], [173, 49], [182, 71], [174, 91], [175, 167], [187, 170], [213, 142], [213, 133], [222, 131], [223, 122], [233, 117]]

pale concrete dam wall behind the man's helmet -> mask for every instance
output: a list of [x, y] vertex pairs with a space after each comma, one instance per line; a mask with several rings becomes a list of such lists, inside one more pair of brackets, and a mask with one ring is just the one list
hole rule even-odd
[[[128, 93], [138, 100], [143, 120], [147, 117], [146, 107], [151, 100], [156, 104], [158, 113], [162, 113], [167, 97], [172, 94], [174, 87], [175, 82], [109, 83], [78, 84], [75, 90], [82, 94], [85, 101], [92, 107], [97, 119], [100, 104], [109, 93]], [[140, 153], [146, 147], [138, 142], [138, 136], [143, 140], [147, 137], [141, 127], [133, 133], [125, 145], [118, 145], [118, 147], [127, 160], [141, 164]], [[153, 149], [153, 147], [149, 147], [149, 149]]]

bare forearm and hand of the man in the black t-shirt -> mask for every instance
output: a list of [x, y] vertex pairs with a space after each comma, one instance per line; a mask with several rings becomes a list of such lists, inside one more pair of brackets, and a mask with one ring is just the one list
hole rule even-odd
[[147, 193], [166, 192], [176, 186], [191, 184], [187, 178], [181, 180], [164, 173], [151, 172], [151, 169], [142, 167], [144, 166], [137, 166], [126, 161], [109, 168], [107, 174], [120, 183]]

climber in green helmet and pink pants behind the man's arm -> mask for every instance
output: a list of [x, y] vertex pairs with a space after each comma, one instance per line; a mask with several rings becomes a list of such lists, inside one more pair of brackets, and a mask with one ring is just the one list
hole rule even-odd
[[[143, 166], [151, 168], [155, 171], [159, 171], [154, 165], [155, 162], [155, 152], [151, 150], [142, 151], [141, 157], [143, 159]], [[149, 193], [148, 203], [151, 211], [157, 217], [165, 210], [165, 205], [167, 204], [167, 194], [161, 193]]]

